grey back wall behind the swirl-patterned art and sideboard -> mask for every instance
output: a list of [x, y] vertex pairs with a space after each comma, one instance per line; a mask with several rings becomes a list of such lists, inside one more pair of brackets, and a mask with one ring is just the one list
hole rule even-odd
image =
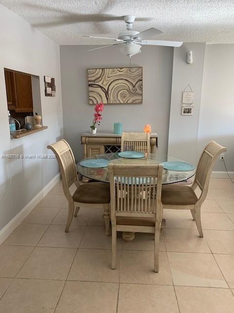
[[[82, 158], [80, 134], [89, 132], [94, 106], [88, 104], [87, 68], [129, 67], [129, 59], [117, 47], [86, 52], [94, 46], [60, 46], [64, 137], [77, 159]], [[151, 124], [159, 136], [158, 152], [167, 154], [171, 101], [173, 48], [142, 47], [132, 66], [143, 67], [143, 104], [106, 105], [98, 131], [113, 132], [113, 123], [122, 122], [124, 131], [143, 131]]]

